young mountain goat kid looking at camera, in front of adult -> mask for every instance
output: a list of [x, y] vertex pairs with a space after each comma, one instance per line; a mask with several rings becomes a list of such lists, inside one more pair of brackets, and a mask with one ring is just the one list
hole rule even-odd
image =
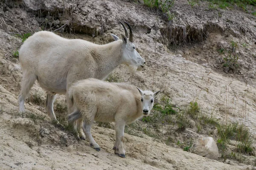
[[68, 95], [75, 106], [68, 115], [69, 122], [83, 119], [83, 129], [90, 146], [100, 150], [90, 133], [93, 121], [116, 122], [116, 142], [113, 150], [125, 157], [123, 138], [125, 125], [148, 115], [154, 105], [154, 97], [160, 92], [142, 91], [134, 85], [110, 83], [99, 79], [84, 79], [74, 83]]

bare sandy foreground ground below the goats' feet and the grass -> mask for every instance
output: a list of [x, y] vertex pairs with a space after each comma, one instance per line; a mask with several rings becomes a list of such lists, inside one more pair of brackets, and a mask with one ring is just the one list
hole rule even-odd
[[[0, 94], [2, 98], [9, 92], [0, 86]], [[94, 126], [93, 137], [102, 147], [102, 150], [97, 152], [89, 147], [88, 142], [77, 141], [73, 136], [58, 130], [50, 123], [44, 122], [39, 125], [31, 119], [15, 116], [16, 109], [12, 109], [16, 108], [12, 105], [15, 98], [16, 96], [13, 95], [8, 96], [6, 100], [9, 102], [5, 102], [5, 110], [0, 114], [0, 167], [3, 170], [13, 168], [32, 170], [85, 170], [88, 168], [95, 170], [239, 170], [250, 167], [224, 164], [184, 152], [166, 144], [154, 142], [146, 135], [140, 138], [125, 134], [124, 144], [127, 157], [122, 159], [113, 154], [114, 130]], [[34, 110], [37, 112], [36, 109]], [[36, 143], [38, 133], [41, 139], [40, 146]]]

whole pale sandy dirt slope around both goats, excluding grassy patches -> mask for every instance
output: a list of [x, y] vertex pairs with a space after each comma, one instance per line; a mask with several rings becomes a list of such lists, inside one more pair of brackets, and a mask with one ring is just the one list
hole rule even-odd
[[[118, 36], [123, 33], [123, 28], [117, 21], [127, 20], [134, 28], [134, 44], [146, 59], [147, 66], [142, 72], [131, 75], [121, 65], [114, 73], [119, 74], [125, 82], [143, 89], [164, 90], [172, 98], [172, 102], [180, 107], [198, 99], [205, 114], [212, 113], [220, 120], [243, 119], [250, 131], [256, 134], [256, 60], [252, 57], [256, 53], [255, 17], [243, 11], [225, 10], [220, 10], [222, 17], [218, 17], [218, 11], [205, 12], [201, 9], [202, 6], [192, 9], [186, 0], [181, 0], [174, 7], [176, 20], [168, 25], [154, 11], [128, 0], [70, 0], [65, 1], [63, 6], [50, 0], [41, 0], [41, 3], [41, 10], [46, 13], [49, 11], [51, 16], [56, 14], [56, 10], [59, 12], [58, 20], [48, 16], [53, 25], [59, 22], [61, 26], [67, 23], [67, 19], [72, 19], [74, 27], [71, 24], [70, 27], [73, 31], [75, 29], [79, 32], [81, 29], [81, 32], [90, 34], [61, 34], [68, 38], [81, 38], [99, 44], [111, 42], [113, 40], [110, 33]], [[102, 151], [96, 152], [88, 146], [88, 142], [77, 141], [70, 133], [63, 132], [49, 122], [35, 124], [32, 120], [17, 115], [17, 95], [22, 73], [19, 61], [12, 57], [12, 51], [19, 48], [22, 42], [10, 33], [39, 30], [39, 24], [47, 17], [39, 17], [37, 1], [26, 0], [20, 6], [15, 7], [15, 3], [11, 2], [0, 6], [0, 20], [3, 20], [0, 25], [0, 169], [236, 170], [252, 167], [232, 161], [224, 164], [206, 159], [154, 142], [146, 135], [140, 138], [125, 134], [127, 158], [121, 159], [113, 154], [113, 130], [93, 127], [93, 136], [102, 147]], [[204, 15], [196, 15], [195, 10], [201, 10]], [[241, 15], [244, 18], [238, 17]], [[227, 24], [227, 18], [233, 24]], [[195, 32], [200, 32], [201, 28], [206, 27], [201, 20], [215, 23], [211, 28], [213, 31], [208, 30], [204, 42], [192, 42], [188, 47], [175, 50], [168, 48], [173, 40], [163, 36], [166, 30], [170, 27], [183, 30], [190, 25], [198, 26]], [[246, 25], [242, 24], [243, 20]], [[194, 34], [193, 31], [191, 34]], [[239, 48], [242, 66], [239, 74], [226, 74], [219, 68], [221, 63], [218, 61], [223, 56], [217, 52], [218, 44], [228, 47], [231, 39], [237, 40], [240, 45], [243, 42], [250, 45], [248, 48]], [[31, 94], [36, 90], [42, 90], [37, 83]], [[64, 99], [63, 96], [59, 98]], [[46, 115], [42, 106], [26, 102], [25, 107], [38, 115]], [[47, 120], [49, 121], [48, 117]], [[43, 134], [42, 137], [42, 129], [46, 129], [49, 134]]]

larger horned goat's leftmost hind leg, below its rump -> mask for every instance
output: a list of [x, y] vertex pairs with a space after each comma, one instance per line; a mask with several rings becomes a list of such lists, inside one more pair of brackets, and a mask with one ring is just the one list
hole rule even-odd
[[20, 112], [25, 112], [24, 102], [29, 94], [30, 89], [34, 85], [36, 80], [36, 75], [27, 71], [23, 72], [21, 90], [18, 96], [18, 108]]

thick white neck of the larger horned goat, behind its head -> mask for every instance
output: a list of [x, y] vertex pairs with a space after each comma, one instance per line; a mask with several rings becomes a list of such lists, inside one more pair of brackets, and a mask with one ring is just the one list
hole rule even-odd
[[104, 79], [118, 65], [122, 64], [122, 40], [101, 45], [95, 51], [95, 54], [97, 54], [94, 57], [98, 64], [98, 79]]

